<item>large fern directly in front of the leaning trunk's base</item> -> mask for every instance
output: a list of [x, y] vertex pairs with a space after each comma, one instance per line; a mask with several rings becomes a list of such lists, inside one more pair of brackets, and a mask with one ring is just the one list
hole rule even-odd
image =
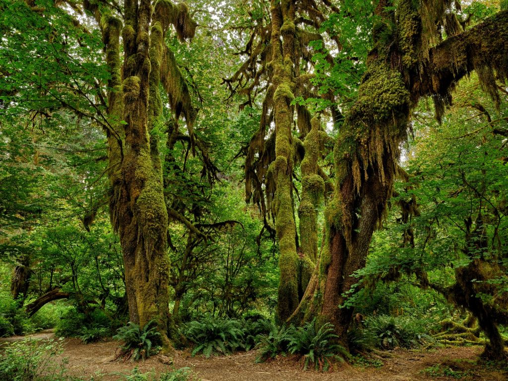
[[349, 355], [346, 349], [336, 342], [339, 337], [333, 333], [332, 324], [325, 323], [319, 329], [316, 328], [314, 320], [294, 330], [288, 351], [301, 355], [304, 370], [312, 364], [316, 370], [327, 371], [331, 359], [343, 362], [344, 357]]

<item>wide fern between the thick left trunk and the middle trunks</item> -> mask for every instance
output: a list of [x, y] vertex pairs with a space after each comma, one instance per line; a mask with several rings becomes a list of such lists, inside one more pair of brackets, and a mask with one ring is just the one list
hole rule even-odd
[[206, 358], [228, 355], [242, 347], [243, 332], [238, 320], [206, 316], [201, 321], [184, 324], [181, 333], [194, 343], [193, 356], [200, 352]]

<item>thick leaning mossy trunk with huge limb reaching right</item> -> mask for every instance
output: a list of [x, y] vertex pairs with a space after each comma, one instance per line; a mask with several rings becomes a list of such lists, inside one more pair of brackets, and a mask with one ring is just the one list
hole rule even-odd
[[306, 319], [319, 314], [332, 322], [345, 346], [352, 321], [352, 309], [343, 307], [345, 295], [356, 283], [355, 271], [365, 265], [372, 234], [386, 212], [411, 107], [422, 96], [432, 96], [439, 111], [455, 81], [472, 70], [494, 93], [494, 70], [497, 78], [507, 77], [506, 12], [429, 49], [431, 34], [440, 30], [433, 26], [440, 25], [449, 3], [435, 2], [432, 14], [428, 4], [420, 7], [410, 0], [398, 2], [396, 10], [389, 0], [376, 8], [367, 71], [334, 148], [335, 193], [326, 210], [323, 255], [300, 305]]

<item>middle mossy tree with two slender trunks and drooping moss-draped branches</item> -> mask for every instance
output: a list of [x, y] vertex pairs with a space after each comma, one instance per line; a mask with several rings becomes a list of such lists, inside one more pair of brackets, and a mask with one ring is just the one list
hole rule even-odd
[[[321, 4], [328, 12], [336, 8], [329, 2]], [[259, 5], [262, 10], [263, 3]], [[242, 105], [252, 105], [260, 91], [264, 92], [262, 115], [258, 131], [252, 136], [245, 153], [245, 189], [247, 202], [259, 205], [265, 228], [276, 236], [279, 245], [280, 282], [277, 317], [287, 320], [298, 306], [315, 266], [317, 234], [315, 209], [325, 192], [328, 176], [316, 166], [322, 156], [327, 134], [319, 120], [313, 121], [304, 104], [295, 98], [310, 98], [314, 93], [313, 66], [309, 48], [312, 41], [323, 41], [319, 34], [326, 16], [315, 2], [272, 1], [270, 14], [248, 11], [253, 25], [245, 49], [240, 52], [246, 60], [225, 83], [235, 92], [246, 94]], [[336, 36], [331, 39], [338, 44]], [[320, 50], [320, 49], [316, 49]], [[329, 54], [325, 57], [332, 60]], [[266, 81], [266, 82], [265, 82]], [[333, 100], [333, 93], [317, 97]], [[340, 118], [337, 108], [331, 107], [334, 120]], [[293, 136], [294, 116], [297, 114], [298, 135]], [[273, 126], [272, 126], [273, 124]], [[295, 221], [293, 178], [306, 147], [309, 153], [303, 164], [303, 194], [300, 209], [300, 231], [305, 244], [300, 247]], [[269, 223], [270, 215], [273, 225]]]

